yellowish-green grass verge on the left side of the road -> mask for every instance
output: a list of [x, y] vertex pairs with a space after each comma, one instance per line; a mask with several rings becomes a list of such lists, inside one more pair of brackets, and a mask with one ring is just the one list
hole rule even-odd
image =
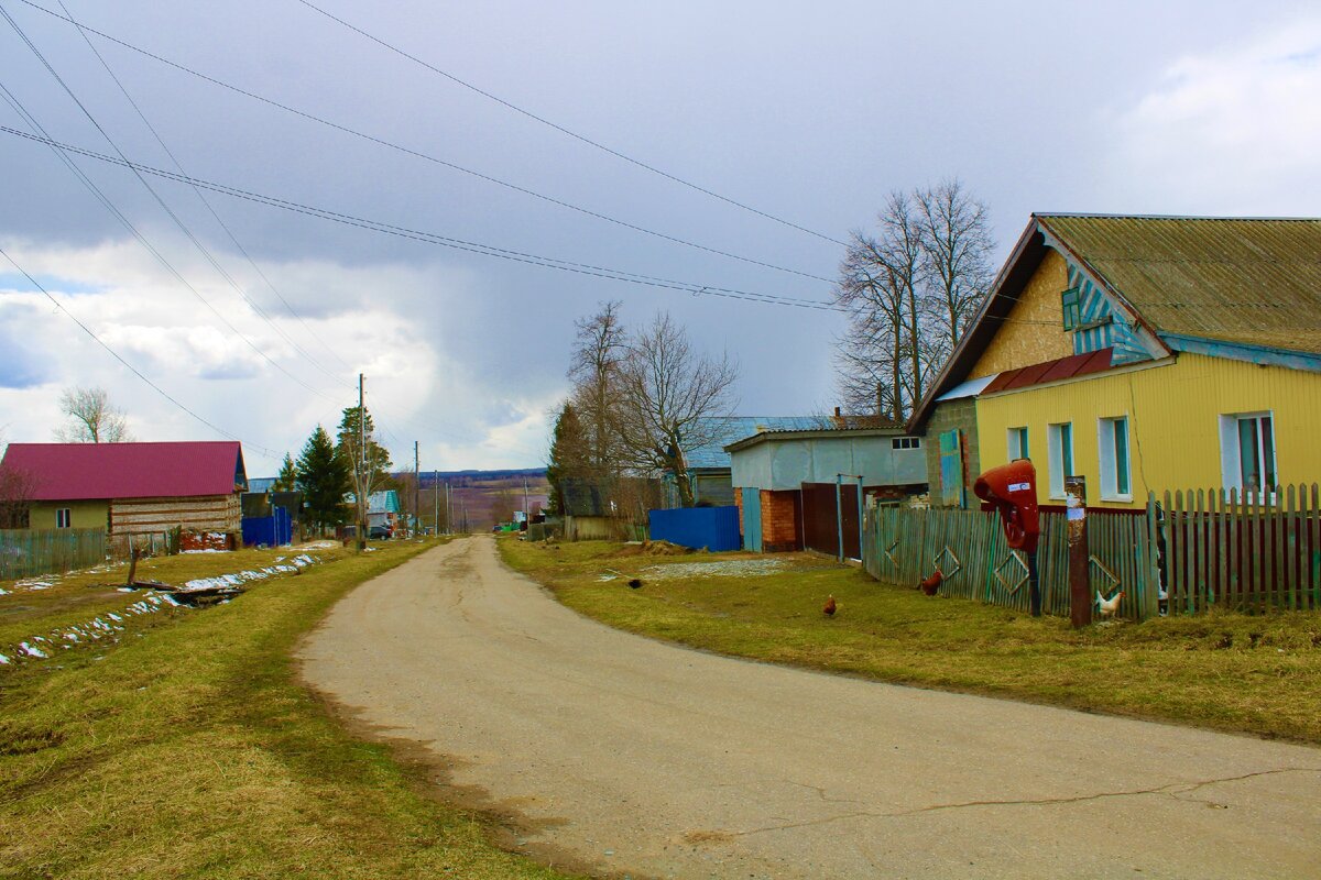
[[[424, 546], [322, 550], [333, 563], [229, 604], [135, 617], [119, 645], [0, 669], [0, 877], [565, 876], [495, 847], [485, 819], [427, 797], [420, 768], [353, 739], [296, 679], [291, 652], [336, 599]], [[42, 604], [22, 612], [30, 635], [132, 600], [77, 582], [0, 610]]]

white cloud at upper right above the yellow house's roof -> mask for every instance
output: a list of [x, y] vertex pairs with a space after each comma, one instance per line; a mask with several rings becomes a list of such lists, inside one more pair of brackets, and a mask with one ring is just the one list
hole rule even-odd
[[1144, 210], [1314, 215], [1318, 95], [1321, 17], [1184, 57], [1116, 120], [1114, 185]]

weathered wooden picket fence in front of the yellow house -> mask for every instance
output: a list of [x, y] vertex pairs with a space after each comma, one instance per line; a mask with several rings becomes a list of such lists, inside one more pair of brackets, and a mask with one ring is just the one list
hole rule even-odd
[[[1148, 497], [1145, 511], [1087, 512], [1090, 596], [1123, 590], [1119, 616], [1143, 620], [1214, 606], [1244, 611], [1321, 608], [1318, 487], [1268, 493], [1197, 489]], [[1028, 565], [1005, 545], [995, 513], [873, 508], [863, 565], [878, 581], [917, 586], [941, 569], [946, 595], [1028, 608]], [[1065, 517], [1041, 515], [1042, 611], [1069, 616]]]

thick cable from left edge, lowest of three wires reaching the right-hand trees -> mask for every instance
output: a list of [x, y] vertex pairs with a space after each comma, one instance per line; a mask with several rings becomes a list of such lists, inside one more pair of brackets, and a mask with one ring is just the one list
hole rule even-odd
[[370, 230], [374, 232], [380, 232], [384, 235], [391, 235], [400, 239], [411, 239], [415, 241], [423, 241], [427, 244], [435, 244], [445, 248], [452, 248], [456, 251], [466, 251], [470, 253], [478, 253], [482, 256], [498, 257], [502, 260], [510, 260], [513, 263], [523, 263], [527, 265], [538, 265], [547, 269], [557, 269], [560, 272], [572, 272], [576, 274], [585, 274], [598, 278], [606, 278], [612, 281], [624, 281], [627, 284], [637, 284], [650, 288], [660, 288], [670, 290], [680, 290], [684, 293], [691, 293], [695, 297], [712, 296], [723, 297], [729, 299], [744, 299], [748, 302], [761, 302], [765, 305], [775, 306], [794, 306], [799, 309], [818, 309], [823, 311], [843, 311], [839, 306], [826, 302], [822, 299], [802, 299], [797, 297], [785, 297], [779, 294], [770, 293], [756, 293], [750, 290], [740, 290], [737, 288], [721, 288], [716, 285], [699, 285], [691, 281], [676, 281], [674, 278], [664, 278], [659, 276], [639, 274], [635, 272], [626, 272], [624, 269], [613, 269], [609, 267], [593, 265], [589, 263], [576, 263], [572, 260], [561, 260], [557, 257], [547, 257], [535, 253], [527, 253], [523, 251], [513, 251], [509, 248], [501, 248], [491, 244], [481, 244], [477, 241], [468, 241], [464, 239], [456, 239], [450, 236], [439, 235], [435, 232], [424, 232], [420, 230], [412, 230], [408, 227], [395, 226], [391, 223], [384, 223], [382, 220], [370, 220], [361, 216], [354, 216], [351, 214], [342, 214], [338, 211], [330, 211], [328, 208], [318, 208], [309, 204], [303, 204], [300, 202], [291, 202], [288, 199], [280, 199], [272, 195], [263, 195], [259, 193], [252, 193], [248, 190], [240, 190], [232, 186], [213, 183], [210, 181], [203, 181], [197, 177], [190, 177], [186, 174], [180, 174], [176, 172], [166, 172], [159, 168], [152, 168], [149, 165], [143, 165], [140, 162], [133, 162], [127, 158], [119, 158], [115, 156], [107, 156], [106, 153], [98, 153], [96, 150], [86, 149], [82, 146], [74, 146], [71, 144], [65, 144], [57, 141], [49, 136], [38, 136], [30, 132], [24, 132], [16, 128], [9, 128], [8, 125], [0, 125], [0, 132], [7, 135], [13, 135], [15, 137], [22, 137], [25, 140], [36, 141], [38, 144], [46, 144], [54, 146], [59, 150], [67, 150], [78, 156], [86, 156], [89, 158], [95, 158], [102, 162], [111, 165], [120, 165], [124, 168], [131, 168], [144, 174], [151, 174], [155, 177], [161, 177], [165, 179], [176, 181], [180, 183], [188, 183], [190, 186], [199, 186], [202, 189], [211, 190], [214, 193], [221, 193], [223, 195], [230, 195], [239, 199], [246, 199], [250, 202], [256, 202], [259, 204], [267, 204], [269, 207], [277, 207], [285, 211], [292, 211], [295, 214], [305, 214], [308, 216], [316, 216], [324, 220], [330, 220], [333, 223], [341, 223], [343, 226], [353, 226], [363, 230]]

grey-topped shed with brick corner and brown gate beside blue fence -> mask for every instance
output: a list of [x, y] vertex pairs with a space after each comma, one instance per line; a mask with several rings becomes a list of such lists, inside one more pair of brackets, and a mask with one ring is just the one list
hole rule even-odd
[[926, 491], [923, 439], [898, 427], [762, 431], [731, 443], [744, 548], [857, 557], [857, 487], [867, 499]]

